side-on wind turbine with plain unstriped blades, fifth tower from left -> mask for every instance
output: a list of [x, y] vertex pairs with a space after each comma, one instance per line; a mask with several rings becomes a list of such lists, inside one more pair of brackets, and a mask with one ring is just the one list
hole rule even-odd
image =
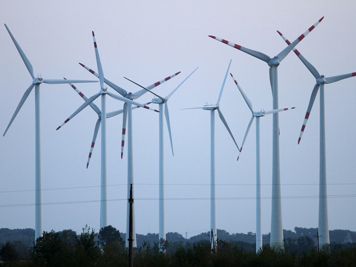
[[[225, 77], [223, 80], [223, 84], [220, 88], [220, 93], [218, 97], [218, 101], [215, 105], [204, 105], [200, 108], [190, 108], [190, 109], [204, 109], [210, 110], [210, 229], [212, 229], [212, 235], [215, 236], [215, 242], [217, 238], [217, 227], [216, 227], [216, 201], [215, 201], [215, 110], [218, 110], [220, 120], [226, 127], [226, 130], [230, 133], [232, 140], [234, 141], [237, 149], [240, 151], [239, 146], [237, 145], [234, 136], [231, 133], [229, 126], [225, 120], [223, 113], [220, 110], [220, 99], [221, 94], [223, 93], [224, 85], [226, 82], [227, 73], [229, 73], [231, 60], [229, 62], [229, 66], [227, 67]], [[211, 249], [215, 249], [215, 244], [211, 244]]]

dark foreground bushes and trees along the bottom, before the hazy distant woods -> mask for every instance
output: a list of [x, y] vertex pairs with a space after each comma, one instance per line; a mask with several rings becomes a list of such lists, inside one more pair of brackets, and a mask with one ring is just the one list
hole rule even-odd
[[[312, 238], [300, 236], [285, 239], [285, 251], [266, 246], [256, 254], [255, 244], [242, 242], [250, 244], [251, 249], [246, 250], [239, 242], [218, 240], [216, 251], [211, 251], [208, 241], [161, 240], [153, 246], [143, 242], [133, 251], [133, 266], [356, 266], [355, 243], [333, 243], [318, 254]], [[0, 266], [127, 266], [124, 243], [112, 226], [98, 234], [88, 226], [80, 235], [72, 230], [52, 230], [43, 232], [26, 253], [21, 254], [14, 242], [6, 242], [0, 250]]]

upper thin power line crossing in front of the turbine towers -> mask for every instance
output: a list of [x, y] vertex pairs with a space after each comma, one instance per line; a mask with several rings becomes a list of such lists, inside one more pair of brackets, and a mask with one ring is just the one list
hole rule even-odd
[[[327, 183], [327, 185], [355, 185], [356, 183]], [[106, 187], [112, 187], [112, 186], [122, 186], [127, 184], [109, 184], [106, 185]], [[135, 185], [160, 185], [159, 183], [137, 183]], [[164, 184], [164, 185], [209, 185], [210, 184]], [[256, 184], [215, 184], [219, 186], [256, 186]], [[273, 185], [273, 184], [260, 184], [260, 185]], [[300, 183], [300, 184], [280, 184], [280, 185], [319, 185], [319, 183]], [[58, 188], [46, 188], [46, 189], [39, 189], [41, 191], [48, 191], [48, 190], [64, 190], [64, 189], [80, 189], [80, 188], [97, 188], [101, 187], [101, 185], [91, 185], [91, 186], [78, 186], [78, 187], [58, 187]], [[16, 192], [32, 192], [32, 191], [37, 191], [36, 189], [25, 189], [25, 190], [8, 190], [8, 191], [0, 191], [0, 193], [16, 193]]]

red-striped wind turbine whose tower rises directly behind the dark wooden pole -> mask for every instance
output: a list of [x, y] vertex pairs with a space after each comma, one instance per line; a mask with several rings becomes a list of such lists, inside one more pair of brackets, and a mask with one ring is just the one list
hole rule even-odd
[[[95, 75], [96, 77], [99, 77], [99, 74], [96, 73], [94, 70], [90, 69], [89, 67], [85, 66], [82, 63], [79, 63], [83, 68], [88, 70], [91, 74]], [[174, 76], [178, 75], [180, 72], [174, 73], [156, 83], [153, 83], [151, 85], [148, 85], [146, 89], [151, 90], [158, 85], [168, 81], [169, 79], [173, 78]], [[146, 89], [141, 89], [135, 93], [127, 93], [127, 91], [116, 84], [110, 82], [108, 79], [104, 78], [104, 83], [109, 85], [112, 89], [117, 91], [120, 95], [122, 95], [126, 99], [137, 99], [141, 95], [145, 94], [147, 91]], [[133, 184], [133, 151], [132, 151], [132, 113], [131, 113], [131, 104], [125, 103], [124, 104], [124, 114], [122, 117], [122, 140], [121, 140], [121, 158], [124, 154], [124, 144], [125, 144], [125, 135], [126, 135], [126, 121], [127, 121], [127, 198], [130, 198], [130, 184]], [[132, 189], [133, 190], [133, 189]], [[133, 194], [133, 191], [132, 191]], [[132, 226], [132, 236], [133, 236], [133, 243], [132, 246], [136, 247], [136, 227], [135, 227], [135, 205], [132, 206], [132, 220], [133, 220], [133, 226]], [[126, 233], [129, 232], [129, 219], [130, 219], [130, 204], [127, 203], [127, 216], [126, 216]], [[126, 240], [126, 246], [129, 246], [129, 241]]]

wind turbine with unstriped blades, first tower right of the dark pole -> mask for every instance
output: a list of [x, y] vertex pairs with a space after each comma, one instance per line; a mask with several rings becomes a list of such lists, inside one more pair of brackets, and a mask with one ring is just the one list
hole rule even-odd
[[[195, 70], [197, 70], [196, 68]], [[143, 87], [142, 85], [133, 82], [130, 79], [125, 79], [129, 80], [130, 82], [137, 84], [139, 87], [151, 92], [158, 98], [153, 98], [152, 103], [158, 104], [158, 110], [159, 110], [159, 118], [158, 118], [158, 130], [159, 130], [159, 170], [158, 170], [158, 180], [159, 180], [159, 215], [158, 215], [158, 224], [159, 224], [159, 233], [158, 233], [158, 241], [161, 239], [166, 240], [166, 226], [165, 226], [165, 208], [164, 208], [164, 151], [163, 151], [163, 105], [164, 105], [164, 116], [166, 117], [166, 122], [167, 122], [167, 127], [168, 127], [168, 133], [169, 133], [169, 140], [171, 142], [171, 148], [172, 148], [172, 156], [174, 156], [173, 152], [173, 143], [172, 143], [172, 134], [171, 134], [171, 123], [169, 122], [169, 111], [168, 111], [168, 99], [173, 95], [173, 93], [182, 85], [185, 80], [189, 78], [190, 75], [192, 75], [195, 70], [193, 70], [192, 73], [190, 73], [176, 88], [172, 90], [171, 93], [169, 93], [167, 96], [161, 96], [159, 94], [154, 93], [153, 91]]]

